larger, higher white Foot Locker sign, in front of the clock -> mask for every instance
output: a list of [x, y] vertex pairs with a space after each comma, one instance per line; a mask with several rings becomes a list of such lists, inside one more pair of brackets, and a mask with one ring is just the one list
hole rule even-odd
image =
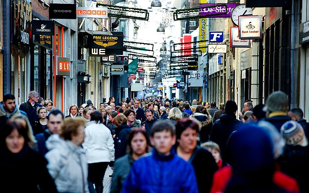
[[262, 39], [262, 16], [239, 16], [239, 39]]

